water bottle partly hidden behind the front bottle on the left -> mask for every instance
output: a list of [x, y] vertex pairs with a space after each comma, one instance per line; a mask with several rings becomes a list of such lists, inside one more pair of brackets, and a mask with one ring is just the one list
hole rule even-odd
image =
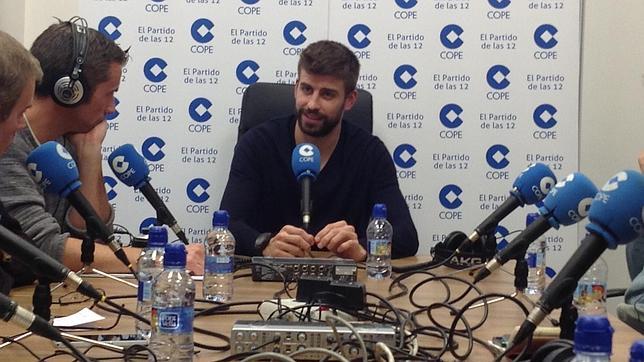
[[[167, 243], [168, 230], [161, 226], [152, 226], [148, 235], [148, 244], [143, 249], [137, 264], [139, 289], [136, 298], [136, 312], [146, 319], [150, 319], [152, 283], [154, 278], [163, 271], [163, 254]], [[137, 319], [134, 328], [139, 337], [150, 339], [149, 325]]]

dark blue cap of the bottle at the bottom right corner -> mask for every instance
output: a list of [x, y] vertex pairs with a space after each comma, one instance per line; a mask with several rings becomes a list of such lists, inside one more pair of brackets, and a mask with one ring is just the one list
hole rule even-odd
[[575, 352], [610, 354], [613, 332], [606, 316], [580, 316], [575, 329]]

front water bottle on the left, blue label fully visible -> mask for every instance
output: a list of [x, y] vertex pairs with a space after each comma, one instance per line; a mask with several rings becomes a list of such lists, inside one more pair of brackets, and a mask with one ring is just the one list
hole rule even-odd
[[186, 272], [182, 243], [165, 246], [163, 268], [152, 287], [149, 347], [159, 361], [192, 361], [195, 284]]

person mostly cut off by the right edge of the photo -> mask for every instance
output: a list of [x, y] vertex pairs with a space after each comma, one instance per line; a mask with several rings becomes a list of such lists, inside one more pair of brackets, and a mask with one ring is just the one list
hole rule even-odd
[[[638, 162], [644, 173], [644, 150], [640, 151]], [[617, 306], [617, 315], [644, 334], [644, 236], [626, 245], [626, 264], [632, 282], [624, 294], [624, 303]]]

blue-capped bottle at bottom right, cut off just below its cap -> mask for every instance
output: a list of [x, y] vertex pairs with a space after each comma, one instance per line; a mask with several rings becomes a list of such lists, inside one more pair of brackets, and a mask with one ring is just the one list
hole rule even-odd
[[613, 327], [605, 316], [580, 316], [575, 328], [573, 362], [610, 361]]

